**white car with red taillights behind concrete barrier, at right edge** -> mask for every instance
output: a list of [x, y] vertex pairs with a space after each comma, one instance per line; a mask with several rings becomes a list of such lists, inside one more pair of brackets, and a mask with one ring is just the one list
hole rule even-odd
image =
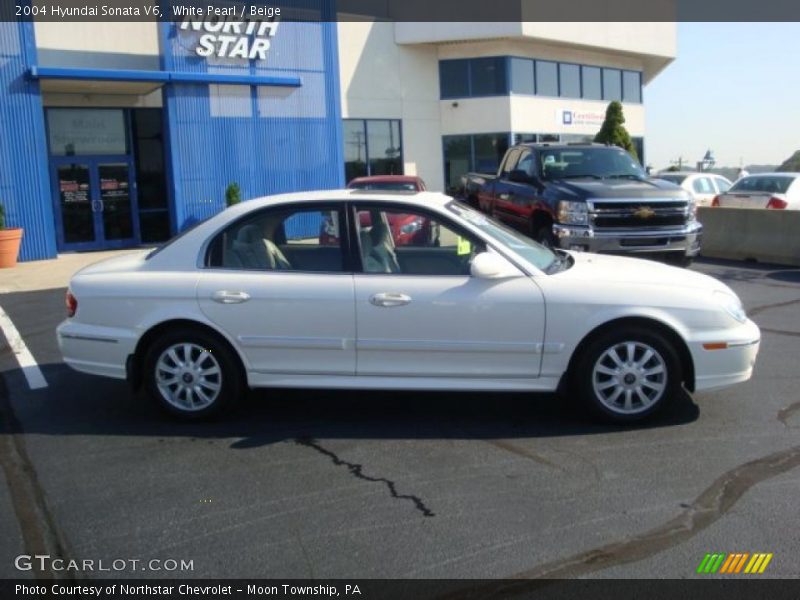
[[712, 206], [800, 210], [800, 173], [759, 173], [737, 179]]

